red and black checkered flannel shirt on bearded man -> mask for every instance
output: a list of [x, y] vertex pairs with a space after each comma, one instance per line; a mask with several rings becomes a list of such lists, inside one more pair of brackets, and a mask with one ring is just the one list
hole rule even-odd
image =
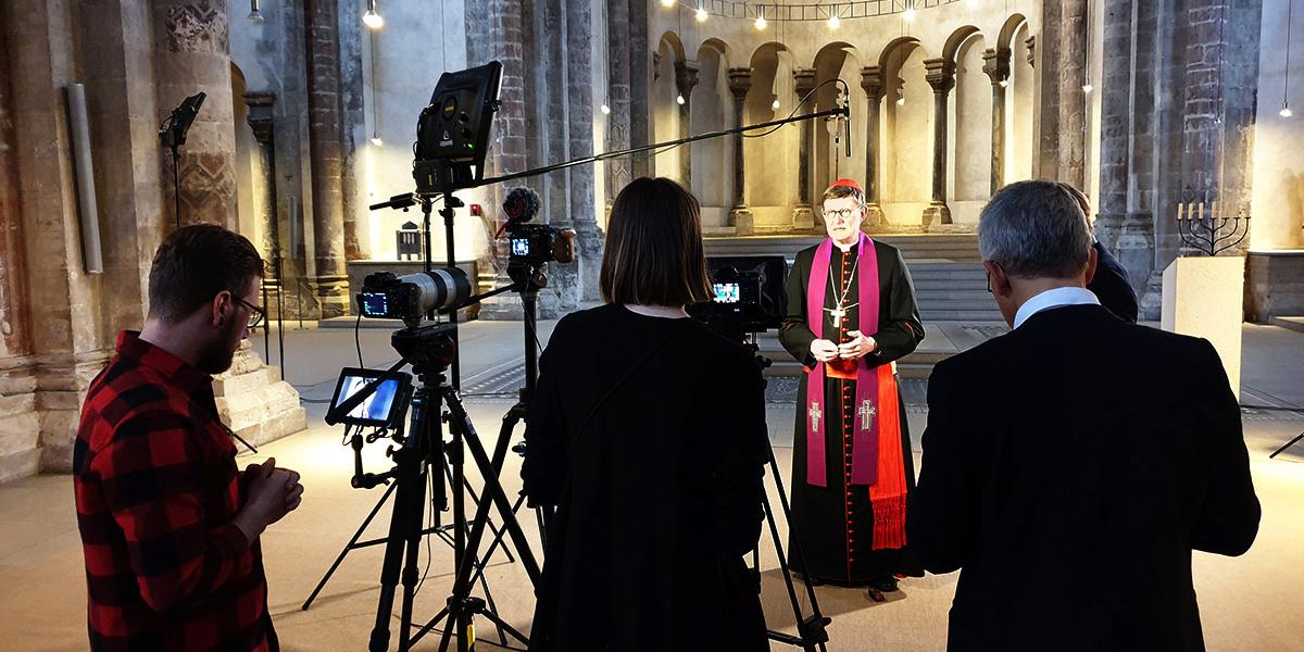
[[119, 335], [73, 450], [91, 649], [278, 649], [235, 452], [213, 378]]

